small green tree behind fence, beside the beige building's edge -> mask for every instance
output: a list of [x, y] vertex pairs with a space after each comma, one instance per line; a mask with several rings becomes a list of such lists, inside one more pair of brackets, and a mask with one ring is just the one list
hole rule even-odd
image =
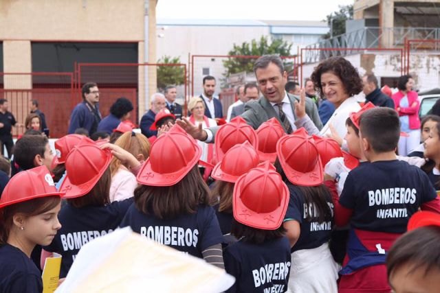
[[[157, 63], [160, 64], [176, 64], [180, 63], [179, 57], [171, 58], [170, 56], [163, 56]], [[185, 70], [183, 66], [158, 66], [157, 67], [157, 88], [165, 89], [166, 86], [184, 84]]]

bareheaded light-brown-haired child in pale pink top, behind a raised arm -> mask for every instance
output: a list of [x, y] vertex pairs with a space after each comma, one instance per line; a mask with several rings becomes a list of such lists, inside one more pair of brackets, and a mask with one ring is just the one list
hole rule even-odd
[[[135, 132], [125, 132], [115, 141], [115, 145], [133, 154], [137, 161], [145, 161], [150, 154], [150, 142], [143, 134]], [[119, 159], [113, 157], [110, 163], [111, 185], [110, 201], [120, 201], [132, 198], [137, 187], [136, 176], [129, 170], [128, 165], [121, 163]]]

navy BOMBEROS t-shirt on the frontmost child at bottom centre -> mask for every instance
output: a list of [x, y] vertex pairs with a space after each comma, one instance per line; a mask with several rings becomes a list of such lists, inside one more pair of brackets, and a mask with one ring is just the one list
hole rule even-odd
[[232, 292], [286, 292], [291, 266], [290, 244], [286, 237], [263, 244], [235, 242], [223, 253], [225, 270], [235, 277]]

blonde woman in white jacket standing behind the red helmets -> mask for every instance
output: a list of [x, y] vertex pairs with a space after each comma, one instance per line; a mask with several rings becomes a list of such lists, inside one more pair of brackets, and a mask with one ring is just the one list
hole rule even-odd
[[[191, 113], [190, 121], [195, 126], [202, 125], [202, 128], [208, 128], [212, 126], [217, 126], [217, 122], [214, 119], [210, 119], [205, 116], [205, 103], [201, 97], [192, 97], [190, 102], [188, 102], [188, 110]], [[204, 143], [203, 141], [197, 141], [201, 146], [201, 161], [212, 164], [212, 158], [214, 157], [214, 145], [212, 143]], [[210, 175], [210, 168], [201, 169], [203, 172], [203, 179], [208, 179]]]

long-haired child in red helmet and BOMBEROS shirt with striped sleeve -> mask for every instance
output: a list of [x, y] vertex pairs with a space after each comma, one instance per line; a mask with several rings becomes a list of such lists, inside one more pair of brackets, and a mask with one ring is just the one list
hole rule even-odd
[[200, 154], [180, 126], [158, 137], [137, 174], [141, 186], [120, 226], [223, 267], [223, 235], [197, 167]]

